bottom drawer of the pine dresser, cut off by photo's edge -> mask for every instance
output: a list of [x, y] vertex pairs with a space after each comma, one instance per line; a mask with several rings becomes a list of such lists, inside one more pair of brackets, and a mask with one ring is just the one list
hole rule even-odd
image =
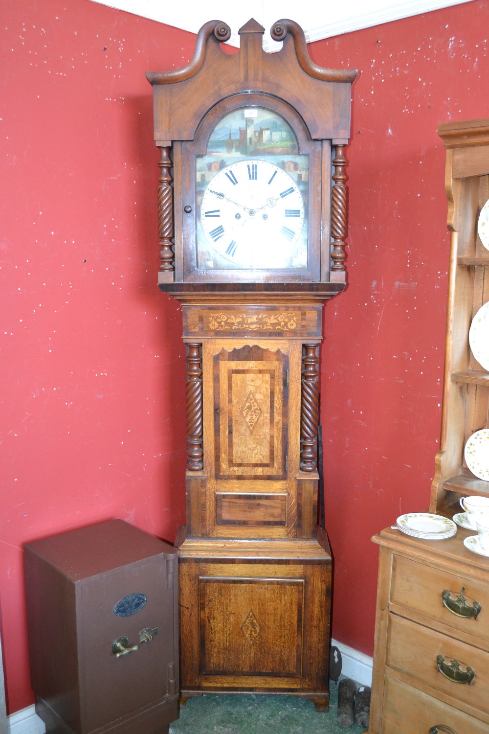
[[487, 723], [386, 676], [381, 734], [429, 734], [436, 724], [455, 734], [488, 734]]

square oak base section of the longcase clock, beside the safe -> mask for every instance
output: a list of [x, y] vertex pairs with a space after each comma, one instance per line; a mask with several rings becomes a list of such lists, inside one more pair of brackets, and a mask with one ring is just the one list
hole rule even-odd
[[[327, 539], [326, 539], [327, 542]], [[328, 701], [331, 556], [287, 542], [281, 557], [247, 558], [240, 541], [179, 549], [182, 693], [295, 693]], [[262, 541], [273, 547], [273, 541]], [[273, 555], [273, 553], [271, 553]], [[294, 558], [294, 556], [296, 556]], [[300, 559], [297, 556], [301, 556]]]

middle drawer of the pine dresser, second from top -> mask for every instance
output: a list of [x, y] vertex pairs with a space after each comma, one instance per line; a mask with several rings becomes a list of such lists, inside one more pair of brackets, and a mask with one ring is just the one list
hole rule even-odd
[[[452, 660], [460, 663], [465, 672], [470, 666], [475, 671], [471, 684], [449, 680], [437, 668], [437, 655], [443, 655], [445, 664]], [[389, 614], [387, 631], [386, 666], [408, 676], [420, 685], [465, 705], [487, 711], [489, 690], [489, 653], [459, 642], [423, 625], [411, 622], [397, 614]], [[483, 718], [489, 722], [488, 714]]]

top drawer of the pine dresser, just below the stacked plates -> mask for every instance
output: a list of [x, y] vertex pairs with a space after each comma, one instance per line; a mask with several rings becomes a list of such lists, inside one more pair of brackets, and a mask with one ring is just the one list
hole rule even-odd
[[[451, 592], [444, 595], [445, 603], [443, 592]], [[473, 635], [484, 641], [485, 649], [489, 647], [487, 584], [394, 555], [390, 601], [416, 611], [433, 622], [442, 622], [454, 630]], [[459, 616], [474, 613], [477, 613], [477, 619], [474, 616]]]

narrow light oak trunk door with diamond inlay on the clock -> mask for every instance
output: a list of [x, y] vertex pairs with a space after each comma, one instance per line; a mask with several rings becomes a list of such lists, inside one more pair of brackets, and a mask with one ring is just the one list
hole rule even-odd
[[284, 479], [288, 357], [243, 346], [214, 357], [216, 479]]

